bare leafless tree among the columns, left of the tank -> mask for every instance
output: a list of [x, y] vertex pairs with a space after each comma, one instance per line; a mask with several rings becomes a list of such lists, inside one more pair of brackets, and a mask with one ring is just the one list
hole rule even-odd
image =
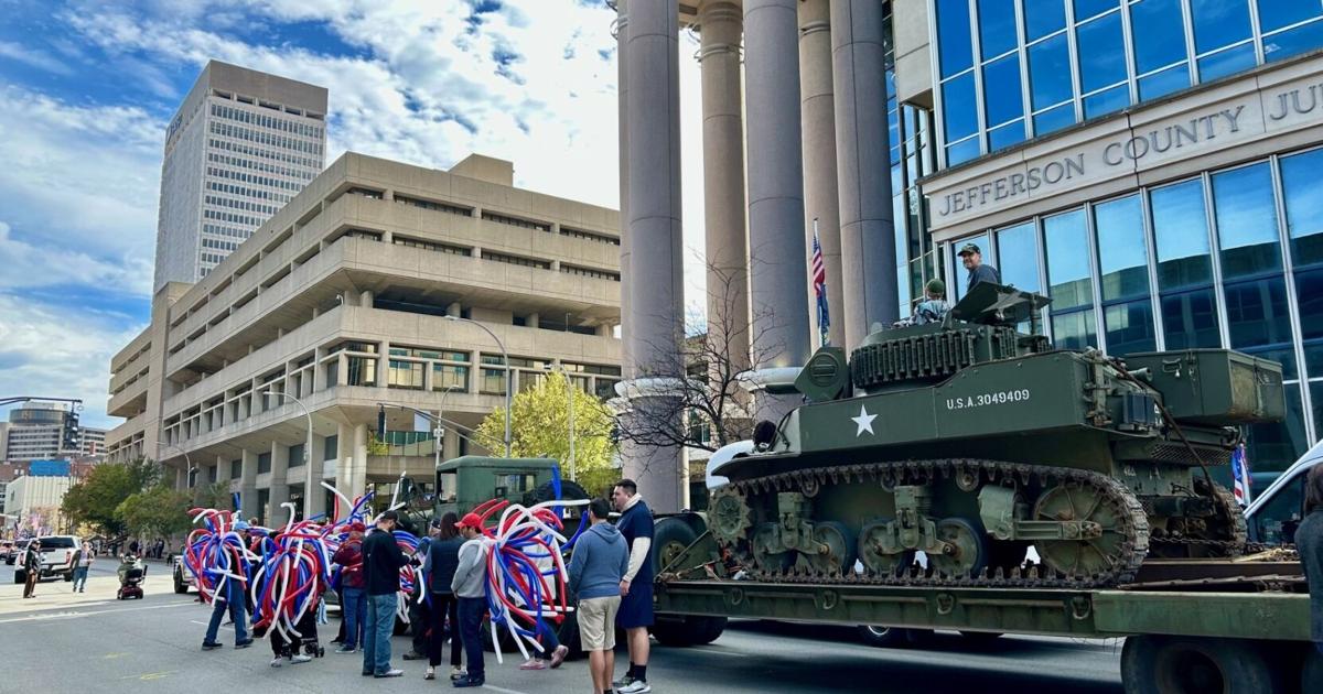
[[744, 271], [708, 264], [706, 317], [689, 311], [676, 344], [639, 345], [652, 357], [636, 377], [648, 386], [617, 418], [622, 443], [712, 452], [753, 435], [753, 397], [745, 385], [750, 369], [779, 346], [770, 338], [775, 327], [770, 311], [755, 308], [753, 320], [742, 320], [745, 282]]

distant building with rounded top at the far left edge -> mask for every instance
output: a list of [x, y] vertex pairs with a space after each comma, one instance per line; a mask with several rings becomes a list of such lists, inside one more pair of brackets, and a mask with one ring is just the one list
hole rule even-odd
[[[70, 440], [70, 436], [77, 440]], [[105, 453], [106, 430], [82, 427], [70, 420], [65, 406], [28, 403], [9, 411], [9, 422], [0, 427], [0, 447], [8, 461], [32, 461], [97, 456]]]

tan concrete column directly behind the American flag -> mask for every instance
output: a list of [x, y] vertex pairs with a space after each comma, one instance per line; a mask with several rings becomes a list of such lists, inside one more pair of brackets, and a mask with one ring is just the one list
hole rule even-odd
[[[827, 338], [845, 344], [840, 276], [840, 206], [836, 192], [836, 110], [832, 103], [831, 22], [827, 0], [799, 3], [799, 114], [804, 127], [804, 243], [814, 249], [814, 218], [827, 271]], [[818, 344], [818, 307], [808, 284], [810, 344]], [[831, 316], [835, 313], [835, 316]]]

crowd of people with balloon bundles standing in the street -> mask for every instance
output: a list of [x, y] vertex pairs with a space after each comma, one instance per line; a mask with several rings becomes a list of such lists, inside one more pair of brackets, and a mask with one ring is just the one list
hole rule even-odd
[[[619, 512], [610, 522], [611, 508]], [[648, 627], [652, 625], [651, 542], [652, 512], [638, 493], [632, 480], [618, 481], [611, 500], [589, 502], [587, 529], [577, 539], [566, 566], [565, 590], [574, 600], [581, 642], [589, 656], [593, 691], [601, 694], [644, 694], [651, 691], [647, 678]], [[392, 635], [400, 600], [409, 603], [413, 642], [404, 660], [426, 660], [425, 679], [435, 679], [443, 666], [446, 645], [450, 646], [450, 681], [455, 687], [480, 687], [487, 681], [483, 653], [483, 624], [488, 612], [488, 562], [492, 538], [484, 533], [483, 517], [466, 513], [462, 518], [447, 513], [434, 518], [427, 537], [413, 555], [396, 541], [398, 516], [386, 510], [372, 520], [349, 526], [345, 541], [335, 550], [331, 562], [339, 567], [337, 595], [341, 607], [340, 633], [333, 642], [336, 654], [361, 653], [364, 677], [394, 678], [404, 670], [392, 664]], [[238, 521], [233, 530], [245, 546], [253, 543], [249, 523]], [[537, 557], [540, 571], [552, 571], [553, 559]], [[421, 568], [411, 594], [402, 594], [401, 568]], [[554, 583], [554, 582], [552, 582]], [[328, 586], [315, 590], [325, 591]], [[253, 595], [239, 580], [224, 582], [212, 599], [212, 619], [202, 638], [202, 649], [221, 648], [221, 621], [229, 616], [234, 625], [234, 648], [243, 649], [263, 635], [271, 641], [271, 666], [303, 664], [312, 660], [318, 646], [318, 609], [304, 609], [292, 629], [279, 628], [271, 616], [263, 617], [249, 631]], [[554, 598], [554, 596], [552, 596]], [[542, 598], [546, 600], [546, 596]], [[545, 670], [560, 668], [569, 649], [557, 640], [560, 617], [554, 611], [538, 612], [533, 652], [520, 669]], [[628, 648], [628, 668], [614, 679], [615, 631], [622, 628]], [[311, 645], [311, 648], [310, 648]]]

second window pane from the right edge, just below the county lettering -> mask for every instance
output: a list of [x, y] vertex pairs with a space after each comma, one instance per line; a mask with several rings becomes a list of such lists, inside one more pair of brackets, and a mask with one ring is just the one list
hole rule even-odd
[[1266, 163], [1213, 174], [1213, 212], [1222, 276], [1241, 278], [1282, 267], [1273, 176]]

